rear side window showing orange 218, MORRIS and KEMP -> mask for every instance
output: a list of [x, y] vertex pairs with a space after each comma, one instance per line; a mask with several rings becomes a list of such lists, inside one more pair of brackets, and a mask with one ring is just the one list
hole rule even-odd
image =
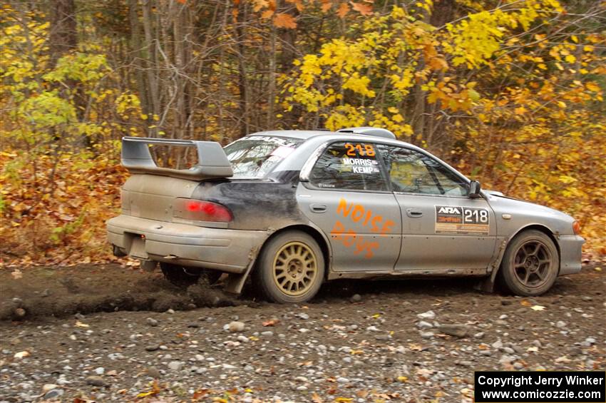
[[309, 175], [317, 188], [387, 190], [372, 143], [340, 142], [330, 145]]

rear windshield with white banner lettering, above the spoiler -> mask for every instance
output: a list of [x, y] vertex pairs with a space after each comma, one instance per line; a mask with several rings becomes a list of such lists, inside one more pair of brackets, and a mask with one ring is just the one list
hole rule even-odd
[[252, 136], [224, 148], [235, 178], [265, 178], [303, 141], [298, 138]]

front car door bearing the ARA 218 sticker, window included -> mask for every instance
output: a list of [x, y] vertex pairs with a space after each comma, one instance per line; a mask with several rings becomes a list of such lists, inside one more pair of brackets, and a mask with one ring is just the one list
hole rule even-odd
[[495, 252], [495, 215], [468, 183], [426, 153], [377, 146], [402, 217], [396, 270], [485, 270]]

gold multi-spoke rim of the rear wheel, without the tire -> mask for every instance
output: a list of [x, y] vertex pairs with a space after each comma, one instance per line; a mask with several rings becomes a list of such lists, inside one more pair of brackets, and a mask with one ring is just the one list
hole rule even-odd
[[302, 242], [289, 242], [274, 257], [274, 282], [285, 295], [297, 297], [309, 291], [318, 274], [317, 258]]

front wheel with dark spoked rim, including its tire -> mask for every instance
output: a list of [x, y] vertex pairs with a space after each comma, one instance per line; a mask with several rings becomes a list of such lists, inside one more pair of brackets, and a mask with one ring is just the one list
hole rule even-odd
[[538, 230], [526, 230], [508, 245], [499, 274], [510, 292], [533, 297], [551, 288], [559, 268], [560, 256], [553, 240]]

